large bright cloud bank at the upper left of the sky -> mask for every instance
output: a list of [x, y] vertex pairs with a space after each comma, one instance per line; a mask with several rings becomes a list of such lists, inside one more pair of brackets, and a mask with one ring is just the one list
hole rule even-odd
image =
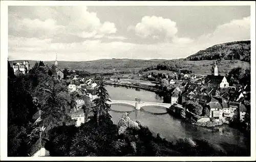
[[[46, 6], [39, 11], [28, 8], [33, 14], [26, 11], [22, 14], [15, 9], [9, 13], [10, 35], [53, 38], [57, 34], [70, 34], [82, 38], [102, 38], [117, 31], [113, 22], [100, 22], [97, 13], [87, 11], [85, 6]], [[43, 10], [48, 14], [41, 12]]]

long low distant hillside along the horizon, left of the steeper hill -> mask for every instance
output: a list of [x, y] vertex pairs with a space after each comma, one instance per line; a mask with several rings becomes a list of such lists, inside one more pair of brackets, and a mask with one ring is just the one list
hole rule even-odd
[[[35, 62], [34, 60], [28, 60], [30, 67], [33, 67]], [[141, 60], [141, 59], [100, 59], [94, 61], [58, 61], [60, 68], [70, 68], [74, 70], [112, 70], [113, 68], [125, 69], [125, 68], [141, 68], [156, 66], [158, 63], [161, 63], [165, 60], [162, 59], [152, 59], [152, 60]], [[23, 60], [12, 60], [13, 62], [23, 62]], [[39, 60], [38, 60], [39, 62]], [[44, 61], [45, 64], [54, 64], [55, 61]]]

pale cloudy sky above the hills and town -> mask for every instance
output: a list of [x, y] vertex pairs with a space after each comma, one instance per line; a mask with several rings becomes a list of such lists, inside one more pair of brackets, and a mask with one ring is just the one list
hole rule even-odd
[[8, 6], [9, 60], [185, 58], [250, 39], [250, 6]]

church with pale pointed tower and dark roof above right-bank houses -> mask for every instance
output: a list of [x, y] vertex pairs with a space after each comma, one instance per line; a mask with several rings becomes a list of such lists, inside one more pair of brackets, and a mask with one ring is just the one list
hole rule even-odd
[[211, 68], [211, 75], [206, 76], [204, 83], [206, 84], [206, 86], [220, 88], [229, 86], [226, 77], [218, 75], [218, 67], [216, 65], [216, 62], [214, 62], [214, 65]]

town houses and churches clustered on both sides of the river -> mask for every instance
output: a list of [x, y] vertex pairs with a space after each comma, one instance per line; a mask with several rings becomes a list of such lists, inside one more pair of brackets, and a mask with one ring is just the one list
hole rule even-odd
[[[63, 72], [58, 66], [57, 60], [54, 64], [56, 77], [63, 79]], [[13, 63], [14, 73], [17, 75], [20, 73], [29, 72], [29, 62], [24, 63]], [[81, 78], [76, 75], [74, 70], [71, 70], [72, 75], [68, 75], [66, 78], [68, 82], [68, 89], [70, 93], [77, 93], [79, 97], [76, 98], [76, 105], [74, 109], [71, 109], [70, 115], [72, 119], [77, 120], [76, 125], [80, 126], [84, 123], [84, 112], [82, 105], [84, 105], [84, 97], [88, 97], [92, 102], [97, 98], [95, 90], [98, 88], [97, 80], [95, 78]], [[136, 74], [141, 77], [141, 80], [155, 80], [154, 74], [148, 73], [142, 76], [139, 72]], [[218, 74], [218, 65], [214, 61], [211, 74], [195, 75], [195, 74], [161, 74], [162, 78], [157, 85], [135, 84], [127, 83], [122, 81], [121, 76], [111, 76], [109, 80], [105, 78], [106, 84], [133, 86], [146, 89], [155, 89], [165, 95], [165, 100], [173, 104], [172, 111], [179, 111], [186, 109], [192, 114], [190, 120], [193, 120], [194, 124], [205, 126], [206, 122], [214, 121], [209, 126], [221, 125], [223, 123], [229, 123], [230, 120], [243, 121], [247, 108], [250, 107], [250, 85], [235, 85], [229, 86], [229, 83], [225, 76]], [[121, 84], [120, 84], [121, 83]], [[138, 86], [139, 85], [139, 86]], [[157, 88], [156, 88], [157, 87]], [[190, 105], [186, 105], [186, 103]], [[199, 109], [199, 112], [195, 114], [193, 106], [196, 104], [195, 109]], [[183, 107], [182, 107], [183, 106]], [[185, 106], [185, 107], [184, 107]], [[190, 106], [190, 107], [189, 107]], [[201, 110], [200, 110], [201, 108]], [[175, 110], [176, 109], [176, 110]], [[190, 112], [190, 111], [192, 112]], [[194, 111], [194, 113], [193, 113]]]

